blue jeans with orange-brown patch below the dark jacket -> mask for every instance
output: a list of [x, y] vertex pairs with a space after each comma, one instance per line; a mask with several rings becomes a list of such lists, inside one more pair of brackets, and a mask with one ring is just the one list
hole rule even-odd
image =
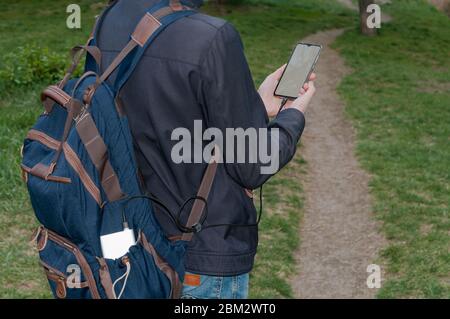
[[249, 274], [216, 277], [186, 273], [182, 299], [247, 299]]

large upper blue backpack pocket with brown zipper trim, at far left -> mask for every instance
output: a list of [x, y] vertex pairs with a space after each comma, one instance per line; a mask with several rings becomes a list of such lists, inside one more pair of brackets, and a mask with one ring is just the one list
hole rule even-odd
[[[59, 147], [61, 154], [56, 165], [52, 166], [50, 162]], [[74, 231], [84, 231], [87, 228], [73, 226], [95, 223], [94, 218], [87, 220], [82, 212], [98, 210], [102, 200], [100, 189], [83, 166], [78, 154], [67, 142], [61, 145], [58, 140], [43, 131], [32, 129], [24, 143], [24, 155], [22, 172], [40, 223], [63, 236], [84, 238], [86, 234]], [[42, 167], [43, 170], [45, 167], [53, 167], [52, 174], [36, 174], [36, 167]], [[95, 202], [87, 203], [87, 196]], [[72, 231], [69, 232], [69, 229]]]

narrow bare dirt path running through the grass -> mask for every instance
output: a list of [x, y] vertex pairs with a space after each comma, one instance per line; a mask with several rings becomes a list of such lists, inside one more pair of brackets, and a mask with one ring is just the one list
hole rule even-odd
[[342, 30], [320, 32], [306, 42], [321, 43], [317, 95], [308, 109], [301, 155], [307, 161], [305, 216], [296, 256], [298, 298], [371, 298], [367, 266], [383, 238], [371, 213], [368, 176], [354, 156], [354, 132], [344, 118], [336, 87], [348, 73], [329, 48]]

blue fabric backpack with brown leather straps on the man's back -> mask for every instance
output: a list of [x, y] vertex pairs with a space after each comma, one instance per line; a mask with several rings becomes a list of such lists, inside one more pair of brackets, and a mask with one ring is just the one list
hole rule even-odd
[[[58, 85], [41, 95], [45, 111], [28, 132], [21, 168], [41, 226], [33, 238], [57, 298], [178, 298], [187, 243], [200, 229], [217, 160], [208, 165], [181, 238], [169, 240], [145, 195], [133, 140], [118, 95], [145, 49], [167, 26], [195, 13], [178, 0], [151, 7], [130, 41], [99, 73], [95, 30], [72, 50], [73, 63]], [[85, 73], [70, 79], [86, 53]], [[117, 70], [113, 84], [105, 82]], [[101, 236], [127, 230], [137, 238], [128, 253], [103, 257]]]

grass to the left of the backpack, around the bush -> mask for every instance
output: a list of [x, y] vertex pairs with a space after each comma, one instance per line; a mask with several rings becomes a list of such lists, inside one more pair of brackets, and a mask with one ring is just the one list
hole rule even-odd
[[[99, 10], [91, 1], [78, 1], [86, 20]], [[0, 0], [0, 56], [17, 47], [38, 44], [67, 52], [83, 43], [90, 30], [65, 27], [64, 1]], [[89, 19], [88, 17], [92, 17]], [[84, 25], [91, 25], [86, 21]], [[69, 62], [69, 60], [68, 60]], [[27, 130], [42, 112], [41, 89], [49, 83], [0, 93], [0, 297], [48, 298], [45, 276], [29, 238], [37, 223], [20, 178], [19, 149]]]

